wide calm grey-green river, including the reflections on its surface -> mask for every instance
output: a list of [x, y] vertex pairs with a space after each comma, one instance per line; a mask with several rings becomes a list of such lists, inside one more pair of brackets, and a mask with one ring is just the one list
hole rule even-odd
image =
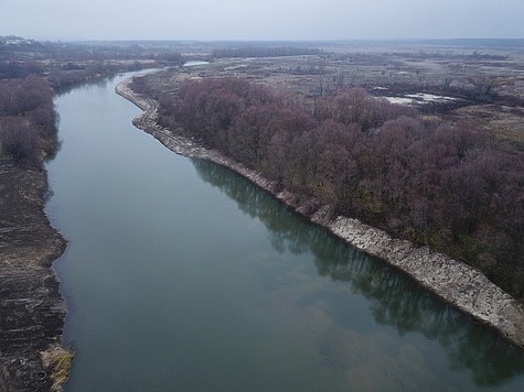
[[524, 390], [524, 356], [213, 163], [114, 92], [60, 96], [47, 214], [66, 391]]

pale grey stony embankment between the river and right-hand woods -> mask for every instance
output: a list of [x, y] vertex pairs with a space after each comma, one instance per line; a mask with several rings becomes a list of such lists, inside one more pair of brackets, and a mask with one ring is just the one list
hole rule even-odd
[[133, 124], [150, 133], [173, 152], [213, 161], [227, 166], [249, 178], [258, 186], [271, 192], [297, 213], [325, 227], [349, 244], [375, 255], [404, 271], [423, 287], [470, 315], [477, 322], [494, 328], [507, 340], [524, 348], [524, 306], [511, 295], [494, 285], [479, 270], [452, 260], [446, 254], [427, 247], [389, 237], [386, 232], [362, 224], [356, 219], [333, 216], [330, 206], [318, 206], [314, 202], [301, 203], [289, 192], [277, 192], [276, 184], [260, 176], [238, 162], [217, 151], [207, 150], [196, 143], [174, 135], [157, 121], [158, 102], [136, 95], [129, 87], [130, 79], [119, 84], [117, 94], [129, 99], [143, 112], [133, 119]]

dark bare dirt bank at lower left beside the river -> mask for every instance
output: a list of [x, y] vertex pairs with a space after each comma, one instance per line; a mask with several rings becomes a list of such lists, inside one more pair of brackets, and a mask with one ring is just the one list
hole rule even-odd
[[43, 210], [46, 173], [0, 160], [0, 391], [60, 390], [55, 360], [68, 367], [71, 353], [51, 263], [65, 241]]

